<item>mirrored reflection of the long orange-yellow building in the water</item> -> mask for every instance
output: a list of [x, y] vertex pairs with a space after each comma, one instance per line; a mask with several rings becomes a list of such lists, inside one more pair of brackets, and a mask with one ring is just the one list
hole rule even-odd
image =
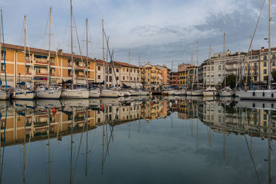
[[[6, 112], [2, 112], [2, 114], [6, 114]], [[59, 139], [61, 139], [61, 136], [70, 134], [72, 119], [74, 133], [83, 131], [83, 126], [86, 126], [86, 120], [88, 130], [96, 127], [94, 110], [88, 110], [88, 119], [86, 119], [86, 110], [74, 110], [72, 114], [57, 112], [54, 115], [52, 112], [50, 113], [50, 138], [56, 138], [57, 134], [59, 134]], [[18, 114], [15, 110], [9, 110], [6, 131], [4, 130], [5, 118], [5, 116], [1, 118], [1, 141], [3, 142], [5, 132], [6, 145], [23, 143], [24, 136], [30, 138], [30, 141], [48, 139], [49, 124], [47, 112], [27, 112], [27, 114], [22, 112]], [[25, 122], [26, 128], [24, 128]]]

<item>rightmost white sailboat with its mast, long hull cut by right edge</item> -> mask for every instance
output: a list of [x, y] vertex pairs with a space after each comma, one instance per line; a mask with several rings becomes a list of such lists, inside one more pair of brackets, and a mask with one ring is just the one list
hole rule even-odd
[[[269, 0], [268, 6], [269, 19], [268, 19], [268, 86], [267, 90], [239, 90], [236, 92], [237, 96], [240, 99], [250, 99], [250, 100], [276, 100], [276, 90], [271, 89], [271, 0]], [[252, 41], [250, 43], [250, 47], [252, 45]]]

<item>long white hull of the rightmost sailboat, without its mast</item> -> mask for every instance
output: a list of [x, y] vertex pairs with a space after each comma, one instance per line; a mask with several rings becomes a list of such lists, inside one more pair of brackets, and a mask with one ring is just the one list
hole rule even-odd
[[238, 91], [240, 99], [276, 101], [276, 90], [248, 90]]

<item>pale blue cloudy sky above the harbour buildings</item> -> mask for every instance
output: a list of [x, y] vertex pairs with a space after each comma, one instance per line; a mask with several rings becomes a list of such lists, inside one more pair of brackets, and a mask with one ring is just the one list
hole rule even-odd
[[[248, 51], [263, 0], [72, 0], [74, 26], [73, 50], [86, 55], [85, 22], [88, 18], [88, 56], [102, 59], [101, 19], [104, 20], [110, 50], [115, 61], [139, 65], [147, 62], [165, 64], [172, 70], [196, 57], [199, 43], [199, 63], [212, 54], [222, 52], [224, 32], [226, 50]], [[30, 47], [48, 49], [49, 10], [52, 6], [51, 50], [70, 52], [70, 1], [68, 0], [0, 0], [3, 8], [3, 28], [6, 43], [23, 45], [23, 16], [26, 15]], [[273, 4], [272, 10], [275, 10]], [[272, 11], [272, 46], [275, 46], [276, 12]], [[52, 26], [51, 25], [51, 26]], [[268, 47], [268, 1], [253, 40], [253, 49]], [[105, 43], [106, 45], [106, 43]], [[184, 57], [186, 53], [186, 57]], [[186, 59], [185, 59], [186, 58]], [[173, 61], [173, 66], [172, 66]]]

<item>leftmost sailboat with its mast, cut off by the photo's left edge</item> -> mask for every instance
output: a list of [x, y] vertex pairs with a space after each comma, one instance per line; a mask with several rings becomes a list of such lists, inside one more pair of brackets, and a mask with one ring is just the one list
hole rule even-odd
[[[5, 51], [5, 41], [4, 41], [4, 34], [3, 34], [3, 14], [1, 9], [1, 23], [0, 23], [0, 50], [2, 46], [2, 37], [3, 37], [3, 59], [4, 59], [4, 66], [5, 66], [5, 81], [6, 81], [6, 90], [0, 89], [0, 100], [7, 100], [10, 99], [10, 92], [7, 88], [7, 74], [6, 74], [6, 51]], [[0, 54], [0, 63], [2, 63], [2, 54]], [[1, 72], [0, 72], [0, 86], [2, 84], [1, 81]]]

